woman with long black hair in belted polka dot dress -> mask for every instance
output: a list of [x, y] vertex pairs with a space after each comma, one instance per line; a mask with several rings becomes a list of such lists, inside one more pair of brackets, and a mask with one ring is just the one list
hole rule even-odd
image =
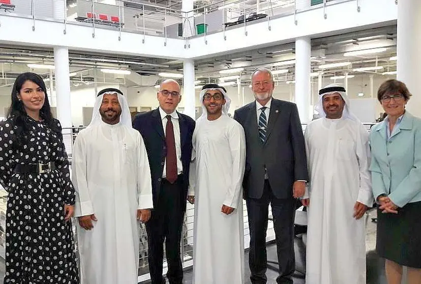
[[79, 283], [74, 189], [62, 127], [42, 78], [20, 74], [0, 127], [0, 183], [8, 191], [5, 283]]

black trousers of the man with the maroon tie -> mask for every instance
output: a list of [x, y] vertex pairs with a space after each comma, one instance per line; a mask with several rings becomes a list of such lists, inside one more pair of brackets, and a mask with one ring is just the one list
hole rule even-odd
[[163, 284], [162, 262], [165, 253], [168, 263], [167, 278], [170, 284], [183, 283], [183, 266], [180, 253], [184, 208], [183, 176], [179, 175], [171, 184], [163, 179], [157, 208], [152, 211], [151, 219], [146, 223], [148, 239], [148, 262], [152, 284]]

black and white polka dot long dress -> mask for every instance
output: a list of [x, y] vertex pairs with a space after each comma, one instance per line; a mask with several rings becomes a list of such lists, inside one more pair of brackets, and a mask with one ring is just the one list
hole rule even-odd
[[[0, 183], [8, 191], [4, 282], [78, 284], [72, 224], [64, 220], [64, 205], [73, 205], [75, 195], [63, 137], [43, 122], [27, 121], [30, 133], [18, 150], [12, 120], [0, 127]], [[13, 172], [16, 164], [49, 161], [57, 167], [50, 173]]]

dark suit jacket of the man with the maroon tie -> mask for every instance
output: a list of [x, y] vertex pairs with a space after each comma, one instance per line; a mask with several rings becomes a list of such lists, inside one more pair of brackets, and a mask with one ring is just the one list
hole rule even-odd
[[[180, 126], [181, 143], [181, 161], [183, 164], [183, 194], [184, 200], [187, 199], [187, 188], [189, 186], [189, 168], [192, 157], [192, 136], [195, 127], [195, 121], [190, 117], [178, 113], [178, 123]], [[159, 108], [149, 112], [140, 113], [133, 122], [133, 128], [137, 129], [145, 142], [149, 166], [152, 176], [152, 195], [154, 207], [158, 205], [159, 193], [161, 189], [162, 173], [164, 171], [165, 157], [167, 150], [165, 146], [164, 128]], [[186, 203], [184, 203], [186, 206]], [[186, 208], [184, 208], [185, 210]]]

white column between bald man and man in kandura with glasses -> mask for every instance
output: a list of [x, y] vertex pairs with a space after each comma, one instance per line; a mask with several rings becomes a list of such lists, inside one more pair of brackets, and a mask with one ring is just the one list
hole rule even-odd
[[194, 61], [186, 59], [183, 62], [183, 100], [184, 114], [196, 120], [196, 98], [194, 91]]

